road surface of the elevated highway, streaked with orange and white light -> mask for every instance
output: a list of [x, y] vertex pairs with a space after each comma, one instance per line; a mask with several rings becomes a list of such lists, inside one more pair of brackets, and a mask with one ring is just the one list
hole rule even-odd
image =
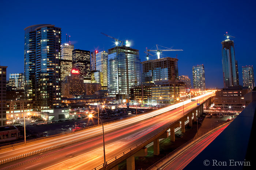
[[[197, 96], [193, 99], [202, 100], [213, 93]], [[106, 161], [123, 153], [144, 139], [158, 134], [162, 126], [173, 122], [183, 115], [182, 102], [171, 106], [153, 110], [149, 113], [138, 115], [130, 119], [125, 119], [104, 125], [104, 130], [116, 127], [128, 126], [105, 134]], [[196, 107], [196, 102], [184, 101], [184, 111], [189, 111]], [[153, 117], [154, 116], [154, 117]], [[150, 118], [150, 119], [148, 119]], [[145, 120], [147, 119], [147, 120]], [[142, 122], [142, 120], [144, 120]], [[96, 121], [96, 119], [95, 119]], [[136, 123], [138, 122], [138, 123]], [[71, 141], [88, 135], [97, 134], [102, 131], [102, 126], [94, 127], [84, 131], [69, 134], [64, 137], [48, 139], [36, 142], [27, 146], [19, 147], [15, 150], [0, 152], [1, 160], [35, 151], [58, 143]], [[0, 169], [93, 169], [103, 164], [102, 136], [93, 137], [71, 145], [46, 151], [44, 153], [32, 155], [30, 157], [18, 159], [16, 161], [0, 165]]]

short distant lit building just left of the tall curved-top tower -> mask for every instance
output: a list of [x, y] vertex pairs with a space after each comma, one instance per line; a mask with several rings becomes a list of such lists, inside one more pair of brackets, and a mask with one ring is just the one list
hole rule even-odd
[[9, 74], [9, 86], [16, 87], [17, 90], [24, 90], [24, 74], [12, 73]]

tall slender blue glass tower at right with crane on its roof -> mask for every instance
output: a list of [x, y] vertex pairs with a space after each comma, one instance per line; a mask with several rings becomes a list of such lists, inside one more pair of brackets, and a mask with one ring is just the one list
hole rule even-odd
[[222, 44], [222, 69], [224, 88], [238, 86], [238, 66], [235, 58], [234, 41], [226, 39]]

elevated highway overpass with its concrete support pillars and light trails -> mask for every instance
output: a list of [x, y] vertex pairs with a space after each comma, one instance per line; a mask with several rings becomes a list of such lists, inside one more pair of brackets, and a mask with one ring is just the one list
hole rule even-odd
[[[86, 166], [86, 169], [116, 169], [118, 163], [127, 159], [127, 169], [134, 169], [134, 156], [145, 156], [147, 154], [145, 146], [152, 141], [154, 141], [154, 154], [159, 154], [159, 139], [166, 138], [170, 132], [171, 140], [175, 141], [174, 129], [181, 126], [182, 132], [185, 132], [185, 122], [188, 121], [189, 124], [192, 124], [192, 119], [196, 119], [196, 114], [202, 114], [202, 104], [210, 104], [209, 98], [214, 95], [211, 92], [193, 98], [200, 101], [200, 106], [197, 106], [196, 102], [185, 100], [184, 112], [183, 102], [180, 102], [143, 115], [105, 124], [108, 165], [106, 167], [103, 167], [101, 126], [26, 145], [18, 145], [13, 148], [14, 150], [10, 147], [3, 148], [0, 151], [1, 164], [4, 163], [1, 167], [13, 166], [13, 169], [15, 167], [20, 169], [31, 166], [33, 169], [56, 169], [56, 167], [79, 169], [80, 166]], [[80, 143], [80, 145], [75, 145], [76, 143]], [[68, 148], [65, 149], [65, 145]], [[47, 154], [44, 154], [46, 150], [50, 150], [48, 153], [52, 155], [51, 157], [63, 161], [52, 162], [52, 159], [47, 158]], [[70, 159], [66, 158], [65, 155], [69, 153], [75, 156]], [[33, 161], [39, 162], [38, 165], [35, 165]], [[40, 164], [42, 163], [40, 161], [43, 161], [44, 165]], [[76, 165], [74, 161], [79, 163]]]

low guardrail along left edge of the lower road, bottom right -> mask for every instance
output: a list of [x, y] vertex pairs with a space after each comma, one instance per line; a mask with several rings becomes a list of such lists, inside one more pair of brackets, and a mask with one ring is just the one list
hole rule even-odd
[[[229, 123], [231, 123], [231, 122], [232, 122], [232, 120], [231, 120]], [[211, 131], [211, 130], [213, 130], [213, 129], [219, 127], [219, 126], [222, 126], [222, 125], [225, 124], [225, 123], [227, 123], [227, 122], [222, 122], [222, 123], [220, 123], [220, 124], [217, 124], [216, 126], [210, 128], [210, 129], [208, 129], [207, 131], [205, 131], [205, 132], [203, 132], [202, 134], [200, 134], [198, 137], [195, 137], [195, 138], [189, 140], [188, 142], [184, 143], [183, 145], [181, 145], [180, 147], [178, 147], [177, 149], [175, 149], [175, 150], [172, 151], [171, 153], [167, 154], [165, 157], [159, 159], [157, 162], [155, 162], [153, 165], [151, 165], [150, 167], [148, 167], [146, 170], [152, 169], [152, 168], [155, 167], [158, 163], [163, 162], [163, 160], [165, 160], [166, 158], [170, 157], [170, 155], [176, 153], [178, 150], [180, 150], [180, 149], [183, 148], [184, 146], [186, 146], [186, 145], [188, 145], [189, 143], [195, 141], [195, 140], [198, 139], [199, 137], [202, 137], [202, 135], [208, 133], [209, 131]]]

